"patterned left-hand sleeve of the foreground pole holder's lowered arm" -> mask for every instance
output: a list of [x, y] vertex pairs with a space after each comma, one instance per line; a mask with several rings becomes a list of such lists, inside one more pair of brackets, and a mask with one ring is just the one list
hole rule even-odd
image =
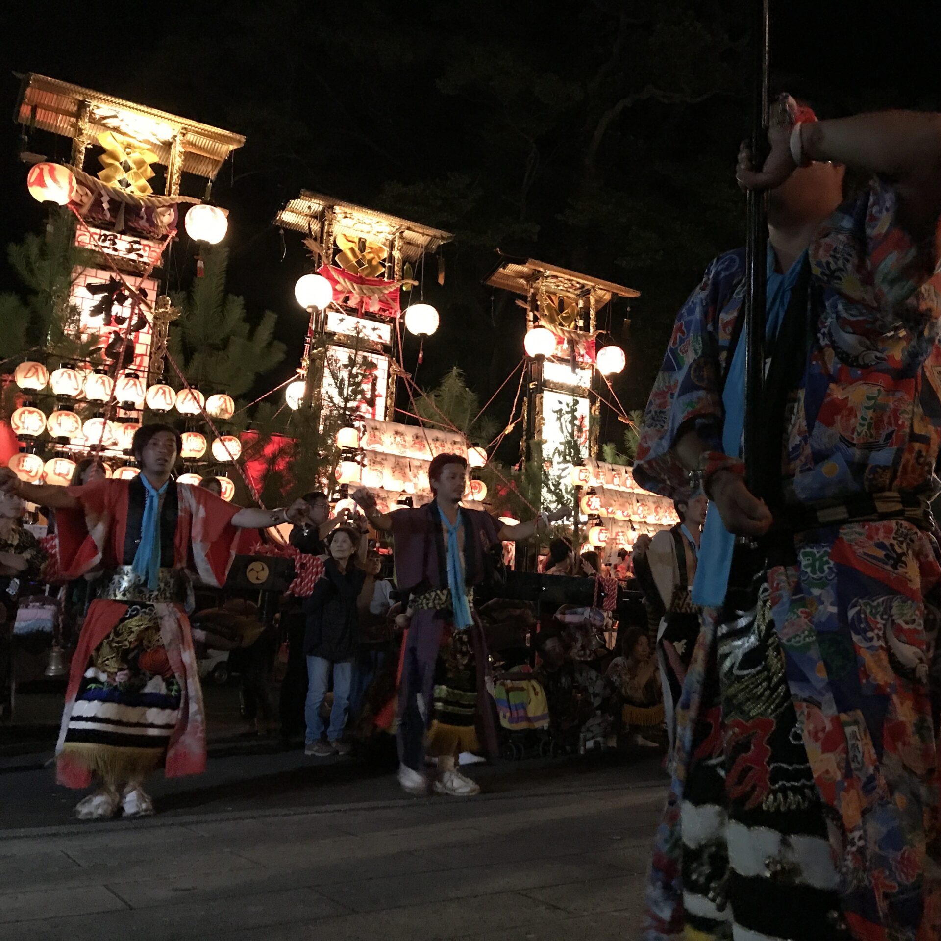
[[[719, 315], [736, 282], [741, 252], [710, 263], [702, 282], [680, 309], [644, 414], [634, 479], [647, 490], [672, 496], [687, 485], [687, 473], [670, 450], [694, 425], [721, 450], [722, 365]], [[725, 343], [727, 345], [727, 343]]]

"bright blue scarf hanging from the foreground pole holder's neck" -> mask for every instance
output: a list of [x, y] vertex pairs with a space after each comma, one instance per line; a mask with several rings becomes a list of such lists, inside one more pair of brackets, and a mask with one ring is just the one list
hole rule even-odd
[[[777, 337], [777, 331], [784, 320], [784, 314], [790, 303], [790, 292], [801, 268], [804, 265], [807, 250], [782, 275], [774, 270], [774, 247], [768, 243], [767, 288], [765, 291], [765, 338], [768, 348]], [[744, 309], [742, 309], [744, 316]], [[722, 450], [730, 457], [742, 454], [742, 431], [745, 427], [745, 332], [735, 347], [732, 363], [726, 376], [726, 387], [722, 392], [722, 405], [726, 411], [726, 420], [722, 429]], [[735, 549], [735, 536], [726, 530], [722, 517], [715, 506], [710, 505], [706, 514], [699, 543], [698, 565], [693, 582], [694, 604], [708, 608], [718, 608], [726, 600], [728, 575], [732, 570], [732, 550]]]

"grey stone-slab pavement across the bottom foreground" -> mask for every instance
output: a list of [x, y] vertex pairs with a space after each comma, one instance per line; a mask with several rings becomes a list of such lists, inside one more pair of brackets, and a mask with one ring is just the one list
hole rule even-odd
[[665, 787], [612, 774], [8, 831], [0, 937], [631, 941]]

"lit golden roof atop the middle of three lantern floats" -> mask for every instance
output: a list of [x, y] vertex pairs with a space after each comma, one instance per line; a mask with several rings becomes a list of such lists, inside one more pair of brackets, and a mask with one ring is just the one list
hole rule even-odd
[[334, 233], [355, 238], [364, 237], [379, 242], [389, 242], [396, 233], [402, 234], [402, 254], [409, 262], [418, 261], [425, 252], [435, 251], [439, 245], [450, 242], [453, 232], [432, 229], [398, 215], [380, 213], [375, 209], [357, 206], [343, 199], [334, 199], [322, 193], [302, 189], [300, 196], [290, 202], [275, 216], [275, 224], [292, 231], [311, 232], [311, 223], [319, 223], [326, 209], [334, 213]]

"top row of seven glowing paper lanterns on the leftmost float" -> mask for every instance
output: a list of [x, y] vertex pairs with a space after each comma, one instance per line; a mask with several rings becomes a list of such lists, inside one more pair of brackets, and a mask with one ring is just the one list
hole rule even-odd
[[134, 370], [125, 370], [115, 382], [104, 372], [92, 372], [73, 366], [60, 366], [50, 375], [41, 362], [29, 359], [21, 362], [13, 379], [23, 391], [49, 390], [62, 399], [78, 399], [83, 395], [89, 402], [107, 402], [114, 393], [115, 401], [136, 409], [145, 405], [153, 411], [167, 412], [176, 408], [181, 415], [199, 415], [203, 409], [219, 421], [228, 421], [235, 414], [231, 395], [219, 392], [207, 399], [198, 389], [176, 391], [164, 383], [148, 387]]

